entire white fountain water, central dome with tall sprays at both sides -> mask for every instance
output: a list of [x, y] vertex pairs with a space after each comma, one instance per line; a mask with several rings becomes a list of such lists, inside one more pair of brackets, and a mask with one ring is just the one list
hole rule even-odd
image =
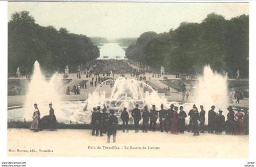
[[[111, 88], [110, 82], [114, 83]], [[205, 111], [208, 111], [210, 106], [215, 105], [216, 112], [221, 108], [223, 115], [226, 116], [227, 114], [227, 77], [214, 73], [209, 66], [204, 68], [203, 75], [198, 79], [192, 98], [194, 99], [193, 103], [167, 101], [165, 97], [160, 97], [160, 94], [151, 86], [134, 78], [119, 77], [116, 80], [104, 81], [94, 89], [93, 93], [88, 94], [85, 101], [62, 101], [60, 87], [63, 87], [62, 76], [55, 73], [49, 79], [44, 78], [39, 63], [35, 61], [25, 106], [22, 109], [16, 109], [17, 112], [23, 114], [17, 116], [17, 112], [13, 112], [15, 109], [10, 110], [8, 112], [9, 119], [32, 120], [34, 103], [38, 104], [41, 117], [49, 114], [48, 104], [52, 103], [57, 121], [63, 123], [90, 123], [93, 107], [102, 107], [104, 104], [117, 112], [121, 112], [123, 107], [126, 107], [127, 111], [130, 112], [135, 104], [139, 104], [140, 108], [148, 106], [149, 109], [152, 108], [152, 104], [155, 104], [157, 110], [160, 110], [161, 104], [164, 105], [165, 109], [168, 109], [170, 104], [174, 104], [175, 106], [182, 105], [188, 114], [195, 103], [198, 108], [199, 105], [204, 105]], [[205, 115], [205, 118], [205, 123], [207, 123], [208, 114]], [[187, 117], [186, 122], [188, 123], [188, 121], [189, 118]]]

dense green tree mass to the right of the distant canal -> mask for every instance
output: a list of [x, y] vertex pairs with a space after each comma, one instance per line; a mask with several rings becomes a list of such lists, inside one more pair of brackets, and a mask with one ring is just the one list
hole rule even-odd
[[249, 15], [229, 20], [210, 13], [201, 23], [182, 22], [177, 29], [145, 32], [126, 50], [127, 58], [168, 72], [218, 72], [249, 77]]

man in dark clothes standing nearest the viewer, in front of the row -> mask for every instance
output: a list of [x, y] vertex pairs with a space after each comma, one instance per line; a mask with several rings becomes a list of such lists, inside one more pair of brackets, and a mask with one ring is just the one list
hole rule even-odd
[[113, 143], [116, 142], [116, 129], [118, 125], [118, 118], [114, 115], [115, 112], [110, 110], [110, 117], [108, 119], [107, 143], [110, 143], [110, 137], [113, 135]]

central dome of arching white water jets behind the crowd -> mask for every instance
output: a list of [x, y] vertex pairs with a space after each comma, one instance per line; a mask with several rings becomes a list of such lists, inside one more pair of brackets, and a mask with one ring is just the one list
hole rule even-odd
[[103, 104], [118, 111], [121, 111], [123, 107], [126, 107], [127, 111], [131, 111], [135, 107], [135, 103], [140, 104], [140, 107], [147, 105], [149, 108], [152, 104], [160, 107], [160, 104], [164, 103], [166, 107], [168, 106], [166, 99], [160, 98], [158, 93], [143, 81], [119, 77], [115, 80], [110, 97], [106, 97], [104, 91], [98, 90], [102, 84], [104, 83], [101, 83], [92, 94], [88, 95], [85, 106], [88, 111], [95, 106], [103, 106]]

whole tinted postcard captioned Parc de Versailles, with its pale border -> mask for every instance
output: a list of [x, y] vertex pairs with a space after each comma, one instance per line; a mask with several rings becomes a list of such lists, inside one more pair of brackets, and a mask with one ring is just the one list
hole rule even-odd
[[8, 2], [6, 154], [249, 158], [249, 6]]

